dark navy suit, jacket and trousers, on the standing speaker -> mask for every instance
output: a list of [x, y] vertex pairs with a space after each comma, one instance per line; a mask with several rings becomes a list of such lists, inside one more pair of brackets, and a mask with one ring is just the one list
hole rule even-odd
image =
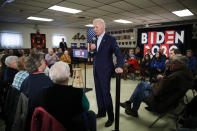
[[[95, 42], [97, 43], [97, 42]], [[114, 71], [113, 53], [117, 57], [117, 67], [123, 67], [120, 48], [114, 37], [104, 34], [98, 50], [94, 53], [93, 73], [98, 105], [98, 114], [108, 114], [109, 120], [114, 119], [113, 104], [110, 94], [110, 81]]]

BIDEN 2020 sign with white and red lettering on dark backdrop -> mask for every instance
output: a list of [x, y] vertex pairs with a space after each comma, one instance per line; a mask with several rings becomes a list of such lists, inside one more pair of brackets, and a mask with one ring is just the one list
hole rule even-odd
[[171, 49], [182, 50], [188, 40], [187, 33], [187, 26], [139, 29], [138, 45], [143, 48], [144, 55], [148, 49], [155, 55], [159, 48], [163, 48], [163, 53], [168, 57]]

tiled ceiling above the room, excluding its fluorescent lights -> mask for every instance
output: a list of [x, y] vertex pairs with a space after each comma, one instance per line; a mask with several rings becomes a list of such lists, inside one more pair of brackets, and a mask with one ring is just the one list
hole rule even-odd
[[[0, 1], [0, 5], [5, 0]], [[49, 10], [53, 5], [82, 10], [69, 14]], [[178, 17], [172, 11], [189, 9], [194, 15]], [[29, 16], [54, 19], [53, 22], [31, 21]], [[86, 28], [94, 18], [103, 18], [107, 27], [140, 27], [161, 23], [197, 21], [197, 0], [15, 0], [0, 8], [0, 22]], [[115, 19], [130, 20], [132, 24], [118, 24]]]

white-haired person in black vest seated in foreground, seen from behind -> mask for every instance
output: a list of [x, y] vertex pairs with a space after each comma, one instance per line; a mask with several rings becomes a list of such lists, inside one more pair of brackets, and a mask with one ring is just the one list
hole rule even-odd
[[70, 69], [59, 61], [49, 71], [54, 86], [43, 90], [40, 105], [68, 131], [96, 131], [96, 115], [89, 110], [89, 102], [80, 88], [68, 86]]

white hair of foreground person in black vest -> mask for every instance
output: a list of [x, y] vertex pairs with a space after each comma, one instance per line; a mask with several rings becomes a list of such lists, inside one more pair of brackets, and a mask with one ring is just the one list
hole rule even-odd
[[59, 61], [56, 62], [49, 70], [49, 77], [56, 84], [68, 82], [70, 75], [70, 68], [67, 63]]

